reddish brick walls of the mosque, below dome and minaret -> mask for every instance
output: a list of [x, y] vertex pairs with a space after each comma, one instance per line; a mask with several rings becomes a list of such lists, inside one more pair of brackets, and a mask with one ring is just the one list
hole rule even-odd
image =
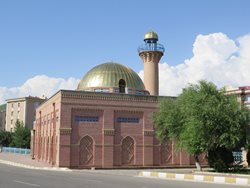
[[159, 97], [61, 90], [36, 110], [32, 155], [52, 166], [188, 166], [175, 143], [154, 136]]

